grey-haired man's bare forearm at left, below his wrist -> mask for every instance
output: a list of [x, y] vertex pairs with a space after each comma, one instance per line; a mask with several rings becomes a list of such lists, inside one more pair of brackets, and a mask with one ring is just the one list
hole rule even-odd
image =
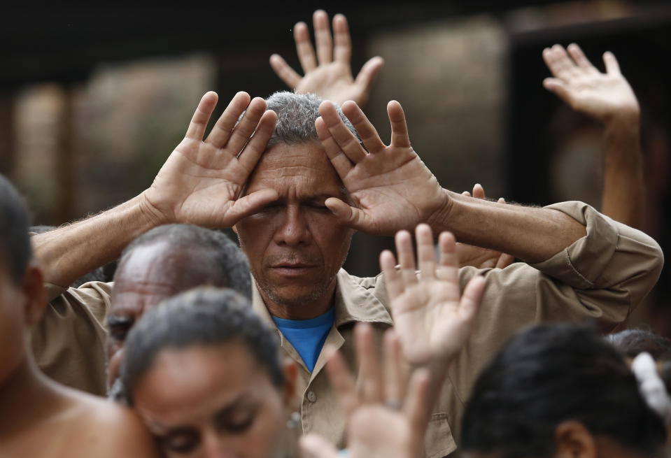
[[85, 220], [32, 237], [45, 282], [68, 286], [119, 257], [136, 236], [160, 224], [137, 196]]

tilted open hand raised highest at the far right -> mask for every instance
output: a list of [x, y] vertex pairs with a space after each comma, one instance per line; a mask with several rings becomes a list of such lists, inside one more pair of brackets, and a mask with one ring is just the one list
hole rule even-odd
[[554, 78], [545, 78], [544, 87], [554, 92], [574, 110], [608, 122], [612, 117], [638, 117], [640, 108], [612, 52], [605, 52], [606, 73], [601, 73], [585, 57], [580, 47], [560, 45], [543, 50], [543, 59]]

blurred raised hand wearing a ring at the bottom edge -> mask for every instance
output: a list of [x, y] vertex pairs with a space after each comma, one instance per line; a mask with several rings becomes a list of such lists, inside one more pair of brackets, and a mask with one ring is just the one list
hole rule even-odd
[[[394, 331], [384, 336], [383, 365], [374, 350], [369, 324], [355, 327], [360, 389], [337, 352], [326, 365], [331, 385], [346, 414], [347, 456], [351, 458], [416, 458], [422, 455], [430, 418], [429, 373], [415, 371], [407, 382], [407, 366]], [[301, 438], [304, 458], [342, 455], [316, 434]]]

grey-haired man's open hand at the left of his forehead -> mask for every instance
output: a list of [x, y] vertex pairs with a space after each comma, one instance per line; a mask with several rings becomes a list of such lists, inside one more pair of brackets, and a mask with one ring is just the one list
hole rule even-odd
[[266, 148], [277, 115], [266, 111], [263, 99], [250, 101], [246, 92], [238, 92], [203, 141], [217, 99], [215, 92], [203, 96], [183, 141], [143, 192], [144, 208], [157, 224], [231, 227], [278, 197], [272, 189], [260, 189], [238, 198]]

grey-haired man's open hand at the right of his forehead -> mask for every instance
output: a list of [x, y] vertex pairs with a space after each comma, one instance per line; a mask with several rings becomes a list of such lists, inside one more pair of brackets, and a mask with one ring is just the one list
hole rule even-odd
[[356, 103], [343, 103], [342, 111], [363, 145], [330, 101], [320, 105], [321, 116], [315, 122], [323, 148], [353, 201], [350, 206], [335, 197], [326, 200], [341, 224], [367, 234], [392, 235], [430, 220], [448, 206], [448, 194], [410, 145], [400, 103], [387, 105], [392, 128], [389, 145], [382, 143]]

